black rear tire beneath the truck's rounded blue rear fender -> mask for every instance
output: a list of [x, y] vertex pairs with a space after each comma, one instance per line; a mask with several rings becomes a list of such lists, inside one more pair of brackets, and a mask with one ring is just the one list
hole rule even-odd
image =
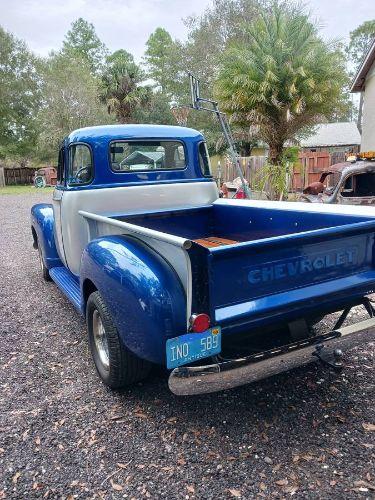
[[[94, 318], [98, 318], [98, 314], [107, 339], [107, 350], [104, 355], [107, 356], [107, 364], [103, 363], [100, 354], [102, 350], [98, 347], [98, 341], [95, 340], [93, 325]], [[100, 378], [106, 385], [112, 389], [120, 389], [127, 385], [135, 384], [147, 377], [151, 364], [148, 361], [138, 358], [122, 344], [111, 313], [99, 292], [93, 292], [88, 298], [86, 324], [95, 367]]]

